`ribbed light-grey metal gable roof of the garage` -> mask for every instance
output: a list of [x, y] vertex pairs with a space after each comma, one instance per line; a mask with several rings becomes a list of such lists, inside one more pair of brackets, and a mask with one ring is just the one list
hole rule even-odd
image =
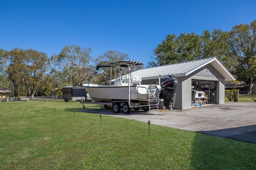
[[224, 78], [225, 81], [235, 80], [230, 72], [222, 65], [222, 63], [217, 59], [217, 57], [209, 57], [204, 59], [198, 59], [193, 61], [186, 61], [181, 63], [174, 63], [168, 65], [161, 65], [158, 67], [152, 67], [147, 69], [141, 69], [134, 71], [133, 75], [140, 75], [142, 80], [156, 79], [159, 74], [164, 75], [174, 75], [176, 77], [190, 75], [194, 71], [205, 67], [207, 64], [211, 64]]

